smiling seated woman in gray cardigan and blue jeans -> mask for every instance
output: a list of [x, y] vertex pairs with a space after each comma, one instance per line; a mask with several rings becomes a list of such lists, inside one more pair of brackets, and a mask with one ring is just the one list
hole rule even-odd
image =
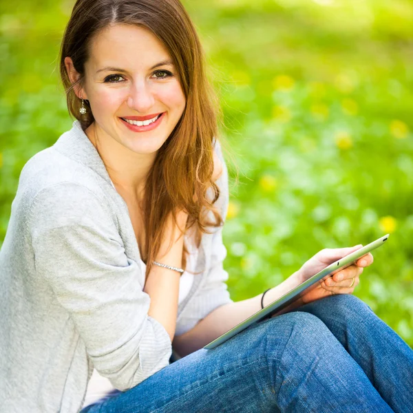
[[351, 295], [371, 254], [202, 348], [360, 246], [231, 300], [228, 172], [178, 0], [78, 0], [61, 75], [77, 120], [23, 168], [1, 249], [2, 412], [412, 410], [412, 350]]

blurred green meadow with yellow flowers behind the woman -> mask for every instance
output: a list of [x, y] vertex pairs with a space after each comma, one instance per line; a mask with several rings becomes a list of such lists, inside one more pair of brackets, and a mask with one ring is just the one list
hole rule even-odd
[[[0, 245], [19, 173], [72, 126], [57, 56], [74, 1], [0, 3]], [[385, 233], [355, 295], [413, 346], [413, 3], [186, 0], [235, 154], [234, 300]], [[17, 257], [18, 258], [18, 257]]]

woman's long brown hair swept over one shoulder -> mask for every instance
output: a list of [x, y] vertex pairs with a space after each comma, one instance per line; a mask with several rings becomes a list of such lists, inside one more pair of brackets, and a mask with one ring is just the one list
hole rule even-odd
[[[187, 211], [187, 229], [196, 226], [199, 244], [207, 226], [221, 226], [223, 219], [213, 204], [220, 196], [213, 175], [213, 138], [218, 138], [222, 112], [204, 69], [204, 52], [194, 25], [179, 0], [77, 0], [65, 28], [60, 50], [60, 72], [67, 96], [67, 107], [83, 130], [94, 122], [90, 107], [79, 114], [81, 99], [74, 87], [85, 81], [85, 62], [93, 36], [118, 23], [149, 29], [165, 46], [175, 65], [186, 107], [178, 124], [160, 147], [145, 183], [143, 216], [145, 218], [146, 276], [151, 270], [169, 215], [176, 218], [178, 209]], [[72, 58], [80, 74], [71, 84], [65, 57]], [[212, 189], [212, 199], [207, 197]], [[202, 209], [205, 209], [203, 212]], [[215, 222], [207, 222], [213, 213]], [[183, 266], [187, 264], [184, 246]]]

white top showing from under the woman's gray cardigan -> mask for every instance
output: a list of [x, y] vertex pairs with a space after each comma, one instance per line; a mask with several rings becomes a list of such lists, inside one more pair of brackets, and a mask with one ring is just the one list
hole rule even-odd
[[[198, 255], [198, 249], [193, 248], [192, 251], [189, 251], [189, 260], [187, 264], [187, 268], [190, 271], [194, 271], [196, 258]], [[142, 271], [145, 273], [146, 271], [146, 264], [142, 260], [140, 260], [140, 264], [142, 265]], [[185, 297], [187, 297], [189, 290], [191, 290], [191, 286], [193, 283], [193, 274], [187, 273], [184, 271], [180, 276], [179, 282], [179, 297], [178, 302], [180, 303], [183, 301]], [[93, 369], [92, 377], [87, 384], [87, 391], [85, 396], [85, 402], [83, 403], [83, 407], [91, 405], [92, 403], [96, 403], [96, 401], [103, 399], [107, 396], [107, 393], [114, 390], [114, 386], [106, 377], [100, 376], [96, 368]]]

